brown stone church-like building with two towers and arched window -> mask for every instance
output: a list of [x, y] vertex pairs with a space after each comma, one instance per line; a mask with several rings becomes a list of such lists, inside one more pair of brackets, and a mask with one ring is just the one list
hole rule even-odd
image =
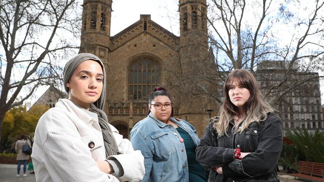
[[80, 53], [93, 53], [106, 66], [105, 112], [110, 123], [128, 137], [136, 122], [146, 117], [150, 92], [164, 87], [173, 98], [175, 117], [187, 120], [202, 135], [211, 106], [189, 90], [196, 82], [193, 76], [204, 74], [196, 72], [197, 65], [210, 64], [206, 0], [179, 0], [180, 36], [149, 14], [110, 36], [111, 12], [112, 0], [84, 0], [80, 48]]

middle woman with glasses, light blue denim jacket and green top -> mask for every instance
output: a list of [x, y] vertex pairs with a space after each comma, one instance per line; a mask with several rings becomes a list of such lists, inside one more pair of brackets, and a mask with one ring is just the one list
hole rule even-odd
[[173, 118], [171, 97], [164, 88], [151, 92], [149, 109], [131, 131], [134, 149], [144, 156], [142, 182], [207, 182], [196, 161], [197, 132], [187, 121]]

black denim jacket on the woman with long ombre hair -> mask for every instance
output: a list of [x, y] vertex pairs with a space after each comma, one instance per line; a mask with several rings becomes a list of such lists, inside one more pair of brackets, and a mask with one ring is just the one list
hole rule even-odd
[[[265, 121], [253, 122], [242, 133], [218, 136], [210, 122], [196, 148], [197, 161], [206, 168], [222, 167], [223, 175], [209, 171], [208, 182], [279, 182], [276, 165], [282, 150], [281, 119], [268, 113]], [[234, 141], [235, 140], [235, 141]], [[234, 150], [251, 152], [242, 160], [234, 160]]]

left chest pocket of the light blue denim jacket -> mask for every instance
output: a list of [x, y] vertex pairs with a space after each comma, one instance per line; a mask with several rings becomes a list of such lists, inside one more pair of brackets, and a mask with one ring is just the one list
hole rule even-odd
[[157, 131], [151, 134], [155, 153], [158, 156], [165, 156], [173, 150], [169, 134], [165, 131]]

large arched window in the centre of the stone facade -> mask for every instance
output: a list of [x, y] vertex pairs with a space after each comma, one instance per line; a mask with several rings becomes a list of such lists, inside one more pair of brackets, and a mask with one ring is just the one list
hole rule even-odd
[[160, 64], [148, 57], [135, 60], [129, 69], [129, 98], [147, 100], [160, 85]]

